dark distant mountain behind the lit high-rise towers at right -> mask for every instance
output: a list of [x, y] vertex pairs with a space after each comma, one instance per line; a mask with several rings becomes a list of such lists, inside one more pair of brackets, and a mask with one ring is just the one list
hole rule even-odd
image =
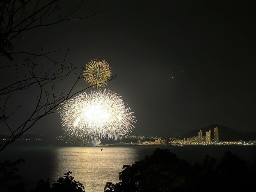
[[[210, 126], [202, 128], [203, 136], [205, 136], [206, 131], [211, 130], [212, 138], [214, 138], [214, 128], [218, 127], [219, 141], [239, 141], [239, 140], [254, 140], [256, 139], [256, 132], [239, 132], [230, 129], [224, 125], [212, 124]], [[189, 138], [198, 136], [200, 128], [187, 132], [185, 134], [176, 136], [176, 138]]]

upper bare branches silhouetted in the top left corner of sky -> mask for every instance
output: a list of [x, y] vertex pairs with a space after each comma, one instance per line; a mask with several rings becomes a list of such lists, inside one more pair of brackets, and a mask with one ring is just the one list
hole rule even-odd
[[[23, 38], [30, 37], [36, 33], [32, 33], [29, 36], [23, 36], [23, 32], [32, 29], [51, 26], [60, 22], [68, 20], [82, 20], [94, 16], [98, 11], [98, 6], [93, 14], [83, 17], [73, 17], [82, 7], [83, 0], [80, 4], [75, 4], [74, 8], [69, 10], [67, 14], [61, 16], [60, 4], [61, 0], [51, 0], [45, 2], [41, 0], [12, 0], [4, 1], [0, 4], [0, 57], [6, 56], [10, 60], [13, 60], [11, 54], [26, 53], [35, 56], [46, 56], [47, 53], [41, 52], [40, 54], [34, 54], [30, 52], [13, 52], [13, 48], [17, 46]], [[36, 4], [36, 5], [34, 5]], [[34, 8], [31, 10], [30, 7]], [[22, 11], [20, 14], [20, 11]], [[18, 39], [18, 42], [16, 42]], [[14, 46], [16, 42], [16, 45]]]

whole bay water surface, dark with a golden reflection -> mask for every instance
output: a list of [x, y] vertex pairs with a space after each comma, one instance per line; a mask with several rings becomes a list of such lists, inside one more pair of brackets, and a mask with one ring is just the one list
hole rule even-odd
[[[190, 163], [202, 162], [206, 154], [220, 159], [230, 150], [248, 163], [256, 160], [255, 146], [158, 146], [168, 148], [178, 158]], [[98, 147], [17, 147], [0, 152], [0, 162], [24, 158], [18, 166], [27, 189], [34, 188], [41, 178], [50, 182], [69, 170], [80, 181], [86, 192], [103, 191], [106, 182], [118, 182], [118, 173], [123, 164], [133, 164], [152, 154], [156, 146], [106, 146]]]

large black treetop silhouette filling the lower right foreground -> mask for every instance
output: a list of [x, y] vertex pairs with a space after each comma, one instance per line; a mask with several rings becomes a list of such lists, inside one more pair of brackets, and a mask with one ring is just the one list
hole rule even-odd
[[220, 162], [206, 155], [202, 163], [189, 164], [158, 148], [144, 160], [124, 165], [120, 182], [107, 182], [104, 192], [245, 191], [254, 185], [255, 167], [230, 151]]

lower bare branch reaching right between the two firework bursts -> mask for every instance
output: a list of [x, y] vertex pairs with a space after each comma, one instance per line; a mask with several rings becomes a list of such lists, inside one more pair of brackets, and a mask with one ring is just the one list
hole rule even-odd
[[[76, 86], [78, 81], [83, 78], [82, 73], [84, 71], [84, 67], [80, 70], [79, 73], [77, 73], [76, 66], [73, 66], [72, 63], [70, 64], [70, 67], [66, 67], [63, 64], [60, 64], [61, 68], [57, 68], [57, 69], [54, 68], [54, 66], [56, 67], [56, 63], [54, 63], [53, 67], [51, 67], [48, 71], [46, 71], [45, 75], [42, 77], [41, 72], [40, 72], [40, 75], [35, 74], [36, 67], [38, 67], [37, 64], [35, 64], [34, 62], [31, 62], [31, 60], [29, 58], [26, 58], [25, 61], [27, 62], [26, 63], [28, 65], [27, 70], [28, 70], [28, 74], [30, 76], [24, 80], [15, 82], [15, 83], [11, 84], [10, 86], [6, 86], [0, 90], [0, 96], [8, 94], [8, 97], [6, 98], [5, 103], [4, 103], [4, 108], [3, 109], [1, 108], [1, 112], [2, 112], [1, 119], [3, 119], [3, 120], [0, 123], [4, 122], [6, 124], [6, 126], [8, 126], [8, 129], [11, 132], [11, 136], [8, 138], [7, 142], [0, 148], [0, 151], [4, 150], [4, 148], [6, 148], [6, 146], [8, 144], [10, 144], [10, 143], [14, 142], [15, 140], [17, 140], [18, 138], [20, 138], [20, 136], [22, 136], [22, 134], [24, 134], [38, 120], [40, 120], [44, 116], [49, 115], [51, 113], [57, 113], [56, 110], [66, 100], [72, 98], [76, 94], [83, 92], [84, 90], [86, 90], [88, 88], [91, 88], [91, 87], [97, 85], [97, 84], [94, 84], [94, 85], [88, 86], [86, 88], [83, 88], [79, 91], [72, 93], [72, 91], [74, 90], [74, 87]], [[65, 78], [67, 78], [68, 76], [70, 76], [72, 74], [74, 74], [76, 79], [75, 79], [74, 83], [72, 84], [72, 86], [70, 86], [70, 88], [68, 89], [69, 90], [68, 93], [64, 94], [64, 92], [61, 92], [57, 96], [54, 91], [55, 90], [55, 82], [59, 81], [59, 80], [64, 80]], [[101, 82], [99, 84], [104, 84], [105, 82], [110, 82], [110, 81], [114, 80], [115, 78], [116, 78], [116, 75], [108, 77], [106, 81]], [[27, 83], [24, 83], [24, 82], [27, 82]], [[47, 91], [47, 85], [50, 83], [52, 83], [51, 94]], [[12, 96], [12, 94], [14, 94], [15, 92], [27, 89], [30, 86], [32, 86], [33, 84], [38, 85], [38, 87], [40, 88], [40, 93], [38, 96], [36, 96], [38, 102], [36, 103], [36, 106], [34, 107], [34, 111], [31, 113], [29, 118], [27, 118], [22, 124], [20, 124], [20, 126], [18, 126], [16, 128], [15, 127], [11, 128], [7, 124], [7, 120], [21, 106], [18, 106], [18, 108], [14, 112], [8, 114], [7, 112], [5, 112], [7, 101]], [[46, 91], [44, 91], [43, 89]]]

